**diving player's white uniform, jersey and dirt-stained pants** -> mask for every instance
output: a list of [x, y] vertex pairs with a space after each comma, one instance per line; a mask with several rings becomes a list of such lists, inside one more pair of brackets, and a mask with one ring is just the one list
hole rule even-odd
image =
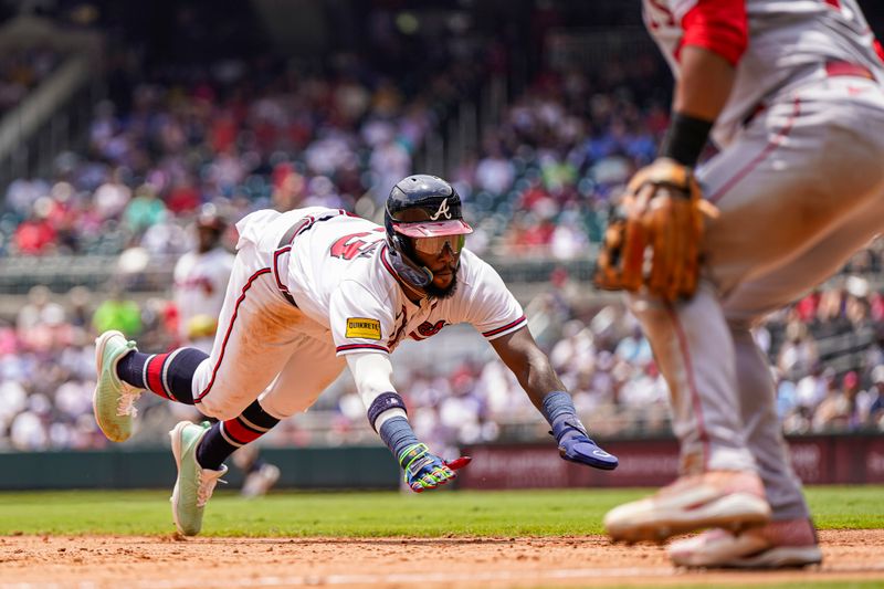
[[[293, 227], [299, 230], [290, 240]], [[235, 417], [261, 393], [262, 408], [284, 418], [313, 404], [348, 354], [388, 355], [406, 337], [427, 339], [455, 323], [472, 324], [487, 339], [526, 325], [494, 269], [467, 250], [456, 292], [415, 305], [397, 282], [385, 231], [375, 223], [309, 207], [256, 211], [236, 229], [218, 335], [192, 382], [207, 416]]]

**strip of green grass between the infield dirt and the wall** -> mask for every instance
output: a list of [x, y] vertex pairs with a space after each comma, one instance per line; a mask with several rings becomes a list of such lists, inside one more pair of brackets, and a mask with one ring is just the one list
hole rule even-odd
[[[604, 513], [644, 490], [215, 494], [203, 536], [551, 536], [600, 534]], [[169, 492], [0, 493], [0, 535], [173, 530]], [[821, 529], [884, 528], [884, 487], [813, 487]]]

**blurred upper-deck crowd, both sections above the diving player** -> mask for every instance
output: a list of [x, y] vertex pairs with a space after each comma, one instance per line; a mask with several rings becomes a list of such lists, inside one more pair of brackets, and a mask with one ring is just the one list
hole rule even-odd
[[[0, 256], [181, 253], [176, 238], [206, 202], [234, 221], [311, 204], [372, 217], [444, 113], [499, 67], [472, 55], [411, 94], [352, 54], [317, 72], [231, 62], [213, 76], [135, 84], [125, 111], [96, 106], [83, 155], [9, 185]], [[655, 63], [545, 72], [483, 125], [481, 150], [449, 175], [475, 221], [474, 249], [571, 259], [599, 241], [610, 196], [653, 157], [667, 123], [653, 93], [635, 98]]]

